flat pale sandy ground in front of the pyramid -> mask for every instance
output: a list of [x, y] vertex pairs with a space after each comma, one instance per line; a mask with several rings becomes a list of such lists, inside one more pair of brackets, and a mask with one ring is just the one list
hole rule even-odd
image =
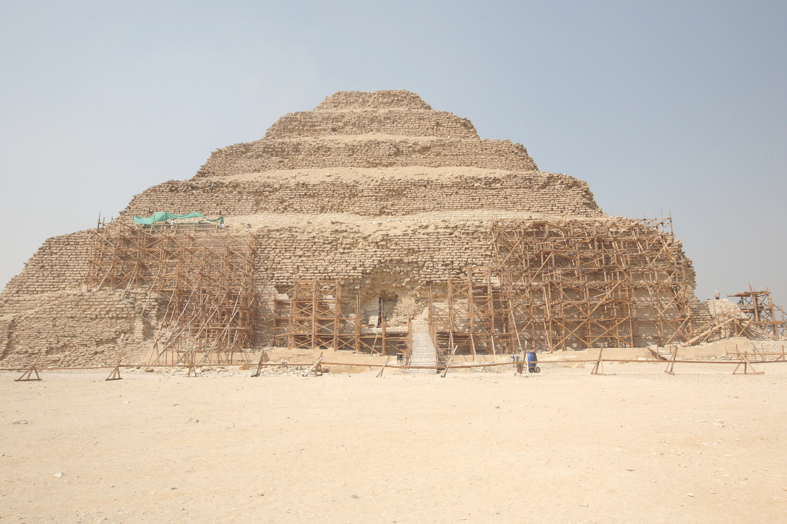
[[499, 369], [0, 373], [0, 524], [787, 522], [787, 363]]

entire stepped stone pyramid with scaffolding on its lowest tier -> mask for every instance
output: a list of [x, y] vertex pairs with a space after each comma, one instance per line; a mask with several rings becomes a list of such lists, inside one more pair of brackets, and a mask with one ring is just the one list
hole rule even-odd
[[[157, 212], [226, 227], [132, 223]], [[0, 295], [0, 362], [663, 344], [707, 315], [665, 223], [605, 215], [582, 180], [410, 91], [339, 91], [47, 240]]]

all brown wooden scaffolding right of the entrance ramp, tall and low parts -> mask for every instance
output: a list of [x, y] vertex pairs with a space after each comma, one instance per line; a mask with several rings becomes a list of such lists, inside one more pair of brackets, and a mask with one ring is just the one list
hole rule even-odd
[[490, 248], [490, 268], [449, 279], [439, 298], [430, 288], [438, 354], [667, 345], [692, 330], [669, 218], [497, 221]]

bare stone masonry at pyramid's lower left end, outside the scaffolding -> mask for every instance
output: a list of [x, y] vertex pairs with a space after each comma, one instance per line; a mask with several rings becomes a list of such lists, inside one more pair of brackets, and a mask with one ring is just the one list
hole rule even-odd
[[49, 238], [0, 294], [2, 367], [29, 365], [39, 349], [51, 365], [114, 363], [120, 348], [126, 362], [144, 359], [158, 305], [148, 301], [142, 318], [145, 291], [80, 290], [92, 242], [92, 231]]

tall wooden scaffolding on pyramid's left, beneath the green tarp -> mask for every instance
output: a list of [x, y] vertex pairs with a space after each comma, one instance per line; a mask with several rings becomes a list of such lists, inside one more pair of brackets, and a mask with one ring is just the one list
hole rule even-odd
[[245, 361], [254, 342], [254, 242], [210, 223], [99, 223], [87, 286], [144, 289], [157, 319], [151, 363]]

